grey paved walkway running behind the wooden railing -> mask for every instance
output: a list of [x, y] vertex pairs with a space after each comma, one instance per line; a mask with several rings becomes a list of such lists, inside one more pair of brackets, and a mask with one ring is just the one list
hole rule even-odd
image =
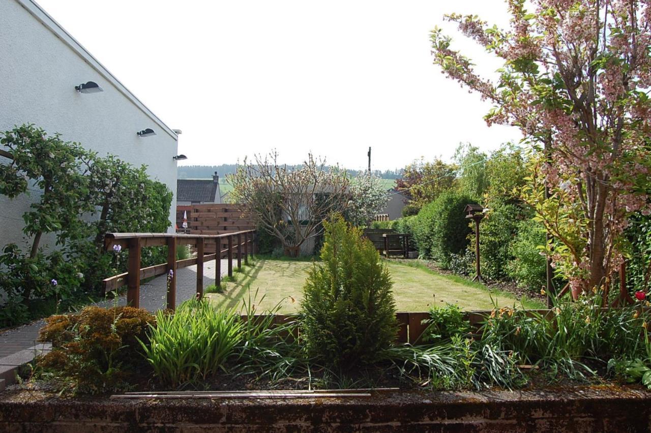
[[[233, 264], [235, 266], [235, 263]], [[228, 260], [221, 260], [221, 275], [228, 272]], [[215, 262], [204, 263], [204, 288], [215, 283]], [[193, 298], [197, 293], [197, 265], [181, 268], [176, 272], [176, 305]], [[167, 298], [167, 275], [160, 275], [140, 286], [140, 307], [152, 313], [164, 308]], [[98, 302], [100, 307], [112, 307], [115, 300]], [[118, 298], [118, 305], [126, 305], [126, 296]], [[36, 344], [38, 330], [44, 326], [44, 320], [37, 320], [28, 325], [9, 329], [0, 333], [0, 357], [9, 356]]]

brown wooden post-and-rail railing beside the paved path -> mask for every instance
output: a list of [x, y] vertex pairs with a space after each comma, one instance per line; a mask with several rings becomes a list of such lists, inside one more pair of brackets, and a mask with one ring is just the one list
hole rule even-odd
[[[206, 244], [220, 245], [226, 239], [228, 247], [220, 249], [215, 247], [217, 253], [204, 254]], [[237, 244], [234, 245], [234, 240]], [[139, 308], [140, 306], [140, 281], [141, 279], [167, 274], [167, 308], [176, 307], [176, 270], [187, 266], [197, 265], [197, 296], [203, 296], [203, 264], [215, 260], [215, 285], [221, 284], [221, 258], [226, 255], [228, 261], [228, 275], [233, 276], [233, 253], [237, 256], [238, 268], [249, 264], [249, 255], [253, 258], [256, 248], [255, 230], [241, 230], [223, 234], [170, 234], [170, 233], [107, 233], [104, 237], [104, 248], [107, 251], [115, 245], [120, 245], [122, 250], [129, 252], [128, 271], [113, 275], [104, 280], [104, 291], [110, 292], [127, 285], [127, 305]], [[144, 247], [167, 245], [167, 262], [141, 268], [141, 251]], [[195, 245], [197, 258], [176, 260], [176, 247], [178, 245]]]

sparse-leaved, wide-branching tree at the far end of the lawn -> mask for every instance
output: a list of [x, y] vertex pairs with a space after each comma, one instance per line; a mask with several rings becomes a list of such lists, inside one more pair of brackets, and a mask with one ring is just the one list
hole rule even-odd
[[283, 247], [300, 247], [323, 232], [322, 221], [333, 212], [343, 212], [350, 200], [346, 172], [327, 167], [325, 159], [312, 154], [302, 165], [279, 165], [278, 153], [238, 165], [229, 176], [235, 203], [258, 227], [276, 236]]

